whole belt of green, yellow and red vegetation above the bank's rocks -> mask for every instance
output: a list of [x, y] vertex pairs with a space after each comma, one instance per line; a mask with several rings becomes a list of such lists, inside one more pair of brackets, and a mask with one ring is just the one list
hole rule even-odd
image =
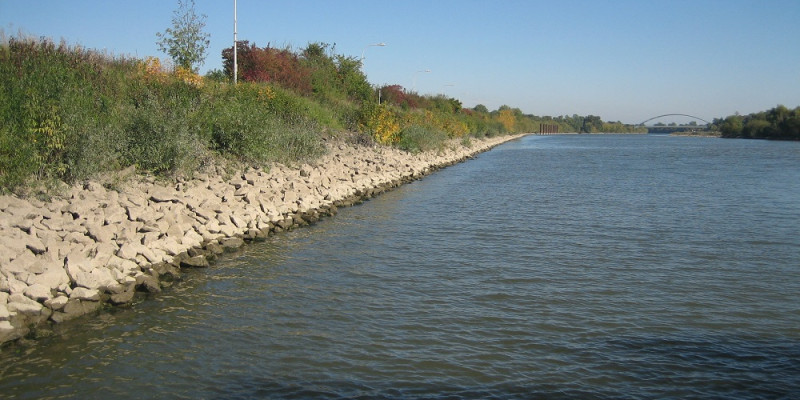
[[[184, 9], [191, 10], [181, 2]], [[184, 10], [185, 11], [185, 10]], [[161, 36], [188, 34], [181, 24], [202, 23], [176, 12]], [[194, 32], [194, 31], [193, 31]], [[184, 44], [199, 54], [203, 35]], [[463, 108], [457, 99], [424, 96], [399, 85], [374, 88], [360, 60], [324, 43], [299, 51], [238, 43], [240, 84], [232, 85], [232, 48], [224, 69], [198, 76], [199, 58], [111, 57], [96, 51], [0, 32], [0, 192], [30, 192], [42, 183], [78, 182], [136, 166], [160, 176], [190, 174], [225, 162], [266, 165], [317, 157], [323, 135], [411, 152], [445, 141], [537, 132], [540, 123], [561, 132], [632, 129], [599, 117], [537, 117], [502, 106]], [[177, 54], [177, 53], [176, 53]], [[183, 54], [183, 53], [180, 53]], [[189, 64], [185, 64], [189, 63]]]

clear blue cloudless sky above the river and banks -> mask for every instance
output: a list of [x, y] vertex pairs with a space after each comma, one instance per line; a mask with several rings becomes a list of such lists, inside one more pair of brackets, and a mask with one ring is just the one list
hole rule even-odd
[[[161, 56], [177, 1], [0, 0], [0, 28], [116, 55]], [[197, 0], [221, 68], [233, 0]], [[239, 39], [335, 43], [373, 84], [466, 107], [638, 123], [800, 105], [800, 0], [239, 0]], [[430, 73], [416, 71], [430, 69]], [[671, 122], [667, 119], [663, 122]], [[675, 119], [681, 122], [680, 118]]]

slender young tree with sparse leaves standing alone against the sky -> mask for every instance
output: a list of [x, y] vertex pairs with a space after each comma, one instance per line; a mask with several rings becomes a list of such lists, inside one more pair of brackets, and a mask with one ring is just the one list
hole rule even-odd
[[158, 49], [168, 54], [175, 65], [197, 72], [206, 58], [211, 43], [206, 26], [206, 15], [194, 12], [194, 0], [178, 0], [178, 9], [172, 14], [172, 28], [156, 33]]

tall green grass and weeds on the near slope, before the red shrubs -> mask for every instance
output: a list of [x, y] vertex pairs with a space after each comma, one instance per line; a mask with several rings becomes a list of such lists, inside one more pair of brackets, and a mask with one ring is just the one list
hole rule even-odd
[[189, 173], [209, 157], [292, 162], [336, 117], [267, 84], [205, 82], [152, 60], [0, 37], [0, 192], [136, 165]]

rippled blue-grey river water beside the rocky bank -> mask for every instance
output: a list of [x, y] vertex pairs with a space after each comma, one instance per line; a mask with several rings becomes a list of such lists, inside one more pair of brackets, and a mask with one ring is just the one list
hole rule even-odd
[[800, 143], [528, 136], [0, 353], [0, 397], [797, 398]]

